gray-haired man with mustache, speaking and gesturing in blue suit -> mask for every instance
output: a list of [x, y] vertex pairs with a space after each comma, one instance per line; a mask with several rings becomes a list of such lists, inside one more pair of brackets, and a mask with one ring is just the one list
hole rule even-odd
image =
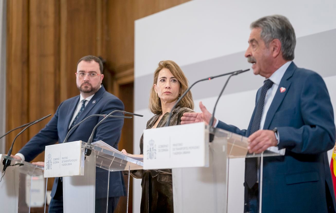
[[[323, 79], [292, 61], [296, 38], [284, 16], [253, 22], [248, 43], [245, 57], [253, 73], [265, 78], [249, 127], [241, 130], [218, 120], [212, 125], [247, 136], [249, 153], [286, 148], [285, 156], [264, 158], [263, 212], [335, 212], [327, 151], [333, 148], [336, 133]], [[184, 113], [181, 124], [209, 123], [211, 114], [202, 103], [200, 108], [202, 113]], [[259, 210], [257, 166], [255, 158], [246, 159], [244, 212]]]

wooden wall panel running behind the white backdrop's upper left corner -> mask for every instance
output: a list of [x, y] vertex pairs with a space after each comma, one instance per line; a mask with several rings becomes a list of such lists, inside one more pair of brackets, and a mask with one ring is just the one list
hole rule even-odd
[[133, 68], [134, 21], [189, 0], [108, 1], [107, 61], [114, 72]]

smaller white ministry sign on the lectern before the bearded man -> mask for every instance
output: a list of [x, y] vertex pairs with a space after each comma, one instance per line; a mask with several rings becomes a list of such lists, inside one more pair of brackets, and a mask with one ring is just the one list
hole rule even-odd
[[82, 141], [59, 143], [45, 147], [44, 177], [64, 177], [84, 174]]

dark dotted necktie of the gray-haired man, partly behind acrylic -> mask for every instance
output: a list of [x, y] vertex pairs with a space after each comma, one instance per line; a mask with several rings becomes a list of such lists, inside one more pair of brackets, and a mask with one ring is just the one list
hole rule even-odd
[[[261, 93], [259, 100], [257, 102], [256, 111], [253, 117], [250, 135], [260, 129], [260, 121], [262, 116], [262, 111], [265, 104], [266, 92], [271, 88], [273, 82], [269, 79], [264, 81], [264, 85], [261, 88]], [[245, 183], [249, 188], [252, 188], [253, 185], [257, 182], [257, 158], [246, 158], [245, 159]]]

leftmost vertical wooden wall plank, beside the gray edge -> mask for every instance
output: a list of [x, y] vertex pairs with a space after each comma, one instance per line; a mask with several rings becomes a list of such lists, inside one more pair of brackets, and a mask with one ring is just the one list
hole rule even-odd
[[[7, 130], [28, 123], [28, 1], [7, 1]], [[7, 136], [7, 147], [19, 131]], [[15, 154], [28, 139], [24, 132], [13, 148]]]

